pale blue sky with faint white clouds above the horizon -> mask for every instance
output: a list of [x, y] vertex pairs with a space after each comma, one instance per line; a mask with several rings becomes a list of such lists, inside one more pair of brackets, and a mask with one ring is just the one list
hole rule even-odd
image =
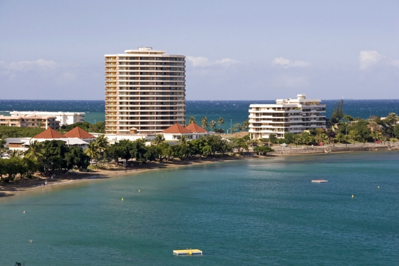
[[103, 100], [104, 55], [183, 54], [187, 100], [399, 99], [398, 0], [0, 0], [0, 99]]

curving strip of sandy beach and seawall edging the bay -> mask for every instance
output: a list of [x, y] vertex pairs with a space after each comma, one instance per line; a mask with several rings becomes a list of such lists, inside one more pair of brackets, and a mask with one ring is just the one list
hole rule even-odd
[[[54, 179], [38, 177], [37, 179], [17, 179], [16, 182], [12, 183], [1, 183], [0, 184], [0, 198], [14, 196], [15, 194], [26, 193], [33, 191], [34, 189], [45, 189], [54, 185], [62, 185], [68, 183], [76, 183], [77, 181], [89, 181], [99, 180], [105, 178], [111, 178], [118, 175], [124, 174], [140, 174], [151, 170], [161, 170], [168, 168], [177, 168], [181, 166], [190, 166], [214, 162], [225, 162], [231, 160], [243, 160], [248, 158], [268, 158], [268, 157], [281, 157], [290, 155], [310, 155], [310, 154], [329, 154], [329, 153], [343, 153], [343, 152], [360, 152], [360, 151], [388, 151], [398, 150], [398, 147], [389, 148], [387, 145], [381, 146], [340, 146], [340, 147], [308, 147], [308, 148], [295, 148], [295, 149], [279, 149], [274, 152], [268, 153], [266, 156], [256, 155], [255, 152], [244, 152], [244, 156], [226, 156], [220, 158], [198, 158], [187, 161], [179, 162], [162, 162], [155, 163], [150, 162], [142, 164], [141, 166], [134, 166], [134, 168], [125, 169], [118, 167], [119, 169], [96, 169], [91, 172], [77, 172], [72, 171], [67, 174], [61, 174], [56, 176]], [[44, 180], [47, 180], [47, 185], [44, 185]]]

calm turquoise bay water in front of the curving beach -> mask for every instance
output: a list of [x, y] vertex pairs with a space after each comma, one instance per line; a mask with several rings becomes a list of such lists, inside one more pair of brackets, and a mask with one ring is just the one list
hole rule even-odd
[[398, 162], [247, 159], [0, 198], [0, 265], [398, 265]]

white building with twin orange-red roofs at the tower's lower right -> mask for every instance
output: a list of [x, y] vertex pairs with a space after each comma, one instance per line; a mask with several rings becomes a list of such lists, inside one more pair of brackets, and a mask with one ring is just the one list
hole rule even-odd
[[196, 123], [192, 123], [187, 127], [183, 127], [176, 123], [164, 130], [161, 134], [164, 136], [165, 140], [178, 140], [182, 138], [182, 135], [184, 135], [188, 140], [192, 140], [205, 136], [208, 132]]

